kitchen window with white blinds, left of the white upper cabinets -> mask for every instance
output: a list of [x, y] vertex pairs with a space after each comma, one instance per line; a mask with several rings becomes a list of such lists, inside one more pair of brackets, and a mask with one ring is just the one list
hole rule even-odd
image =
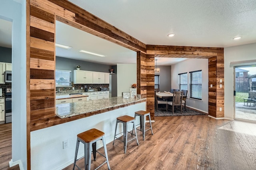
[[70, 70], [55, 70], [56, 87], [71, 86]]

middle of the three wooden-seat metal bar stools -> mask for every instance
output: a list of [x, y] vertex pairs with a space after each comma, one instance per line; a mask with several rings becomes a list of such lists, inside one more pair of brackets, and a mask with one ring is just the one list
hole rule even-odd
[[[126, 147], [127, 147], [127, 143], [130, 142], [132, 139], [135, 139], [137, 140], [137, 144], [139, 145], [139, 142], [138, 142], [138, 138], [137, 138], [137, 132], [135, 131], [135, 137], [132, 138], [131, 140], [127, 141], [127, 134], [130, 133], [128, 132], [128, 126], [127, 124], [128, 123], [133, 123], [133, 128], [135, 128], [135, 119], [134, 117], [131, 117], [131, 116], [128, 116], [128, 115], [124, 115], [124, 116], [121, 116], [121, 117], [117, 117], [116, 118], [116, 128], [117, 128], [117, 124], [120, 122], [120, 123], [123, 123], [123, 133], [124, 133], [124, 153], [126, 153]], [[132, 128], [132, 129], [133, 129]], [[120, 134], [120, 133], [119, 133]], [[117, 134], [117, 135], [119, 135]], [[132, 135], [134, 135], [133, 133], [131, 133]], [[113, 145], [114, 145], [114, 142], [115, 142], [115, 139], [117, 139], [116, 137], [116, 130], [115, 130], [115, 136], [114, 136], [114, 141], [113, 141]]]

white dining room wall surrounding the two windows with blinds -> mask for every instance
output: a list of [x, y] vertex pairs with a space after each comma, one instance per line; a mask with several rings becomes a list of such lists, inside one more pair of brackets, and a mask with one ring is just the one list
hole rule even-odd
[[[202, 101], [189, 98], [189, 72], [202, 70]], [[208, 113], [208, 59], [188, 59], [172, 65], [172, 88], [179, 89], [178, 74], [188, 74], [188, 99], [186, 106], [190, 106]]]

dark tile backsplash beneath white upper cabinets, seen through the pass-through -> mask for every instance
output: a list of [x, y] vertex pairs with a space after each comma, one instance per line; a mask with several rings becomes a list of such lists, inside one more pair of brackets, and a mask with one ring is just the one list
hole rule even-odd
[[71, 85], [72, 87], [56, 87], [56, 92], [61, 93], [61, 91], [72, 90], [73, 87], [75, 88], [74, 90], [81, 90], [82, 87], [82, 91], [84, 91], [85, 86], [87, 86], [88, 90], [91, 87], [94, 91], [97, 91], [99, 87], [109, 88], [109, 84], [73, 84], [72, 82]]

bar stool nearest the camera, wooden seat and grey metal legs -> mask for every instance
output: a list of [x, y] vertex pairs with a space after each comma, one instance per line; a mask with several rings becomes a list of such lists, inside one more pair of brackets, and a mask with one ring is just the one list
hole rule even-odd
[[[102, 140], [105, 156], [96, 150], [96, 141], [99, 141], [99, 140]], [[102, 131], [99, 131], [98, 129], [90, 129], [88, 131], [79, 133], [77, 135], [76, 153], [75, 153], [73, 170], [75, 169], [75, 166], [78, 169], [80, 169], [76, 165], [77, 152], [78, 152], [78, 147], [79, 147], [80, 142], [84, 144], [84, 168], [85, 168], [85, 170], [90, 170], [90, 168], [91, 168], [92, 152], [93, 152], [94, 160], [96, 160], [96, 152], [98, 152], [100, 155], [104, 156], [106, 158], [106, 161], [103, 164], [105, 164], [107, 162], [108, 169], [110, 170], [110, 166], [109, 166], [109, 162], [108, 162], [106, 141], [105, 141], [105, 133]], [[100, 166], [102, 166], [103, 164], [101, 164]], [[98, 168], [100, 166], [98, 166]], [[98, 168], [96, 168], [96, 169], [98, 169]]]

